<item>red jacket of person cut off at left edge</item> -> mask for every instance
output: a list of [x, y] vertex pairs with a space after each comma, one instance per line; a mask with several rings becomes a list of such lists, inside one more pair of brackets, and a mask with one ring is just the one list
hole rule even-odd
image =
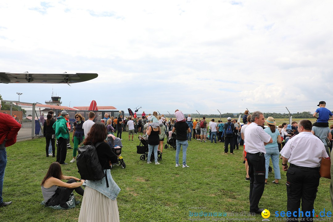
[[17, 132], [21, 129], [21, 124], [18, 123], [12, 116], [0, 113], [0, 144], [6, 140], [5, 147], [16, 143]]

